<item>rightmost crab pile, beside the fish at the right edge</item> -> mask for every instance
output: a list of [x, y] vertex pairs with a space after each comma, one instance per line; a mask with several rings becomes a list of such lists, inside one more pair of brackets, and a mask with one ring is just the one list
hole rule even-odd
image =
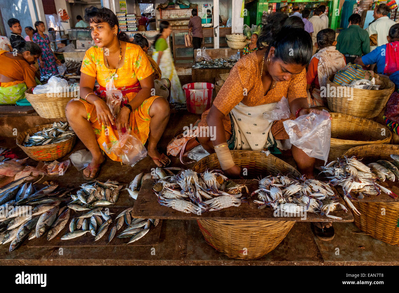
[[[389, 163], [383, 160], [378, 162], [384, 165]], [[379, 163], [371, 163], [366, 166], [361, 161], [356, 159], [356, 157], [348, 158], [345, 156], [343, 159], [337, 158], [336, 161], [332, 161], [326, 166], [320, 167], [322, 170], [320, 173], [325, 173], [327, 175], [326, 178], [330, 179], [330, 184], [332, 186], [339, 185], [342, 187], [342, 190], [344, 191], [345, 202], [356, 214], [360, 215], [360, 212], [349, 199], [353, 198], [352, 195], [358, 194], [358, 199], [362, 199], [364, 197], [363, 193], [367, 195], [379, 195], [381, 194], [381, 191], [383, 191], [390, 197], [395, 199], [397, 198], [395, 193], [376, 183], [377, 179], [381, 180], [380, 176], [383, 175], [381, 172], [386, 173], [387, 176], [390, 176], [390, 171]], [[392, 175], [393, 180], [395, 180], [395, 175]]]

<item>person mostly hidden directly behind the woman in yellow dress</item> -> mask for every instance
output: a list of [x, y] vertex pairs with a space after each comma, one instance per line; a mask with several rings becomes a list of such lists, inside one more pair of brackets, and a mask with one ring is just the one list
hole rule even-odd
[[141, 49], [143, 49], [144, 53], [146, 53], [148, 61], [150, 61], [151, 63], [152, 69], [154, 69], [154, 73], [152, 74], [152, 76], [154, 77], [155, 94], [157, 96], [163, 96], [169, 102], [170, 80], [161, 78], [162, 77], [161, 69], [159, 68], [158, 64], [156, 64], [154, 59], [152, 59], [151, 56], [148, 55], [148, 47], [149, 47], [148, 40], [141, 33], [136, 33], [134, 35], [133, 43], [139, 45]]

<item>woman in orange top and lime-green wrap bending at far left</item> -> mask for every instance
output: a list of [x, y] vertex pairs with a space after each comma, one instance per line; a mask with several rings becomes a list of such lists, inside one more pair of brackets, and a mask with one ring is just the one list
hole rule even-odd
[[0, 51], [0, 104], [15, 104], [25, 98], [25, 91], [36, 87], [36, 69], [33, 66], [41, 55], [34, 42], [20, 41], [15, 46], [17, 55]]

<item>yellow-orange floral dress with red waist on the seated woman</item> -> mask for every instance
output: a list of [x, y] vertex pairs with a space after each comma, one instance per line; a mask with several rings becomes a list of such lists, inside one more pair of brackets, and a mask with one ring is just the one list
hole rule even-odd
[[[93, 46], [86, 51], [82, 62], [81, 72], [97, 79], [99, 86], [95, 88], [95, 93], [105, 100], [105, 85], [109, 80], [109, 69], [105, 66], [103, 58], [103, 48]], [[111, 69], [111, 73], [115, 73], [115, 69]], [[120, 66], [117, 76], [114, 77], [114, 85], [122, 91], [124, 101], [122, 106], [134, 99], [137, 92], [140, 91], [140, 83], [142, 79], [152, 75], [154, 70], [150, 65], [150, 61], [140, 46], [126, 43], [126, 51], [123, 65]], [[150, 132], [150, 115], [149, 110], [152, 102], [158, 96], [150, 96], [141, 104], [140, 107], [134, 109], [130, 113], [129, 124], [130, 130], [136, 134], [138, 139], [145, 144]], [[96, 107], [89, 102], [80, 99], [85, 105], [87, 112], [87, 120], [91, 122], [97, 142], [101, 149], [105, 151], [106, 146], [115, 144], [119, 138], [118, 131], [115, 127], [107, 127], [97, 119]], [[122, 129], [124, 132], [124, 129]], [[114, 153], [107, 154], [113, 161], [121, 161]]]

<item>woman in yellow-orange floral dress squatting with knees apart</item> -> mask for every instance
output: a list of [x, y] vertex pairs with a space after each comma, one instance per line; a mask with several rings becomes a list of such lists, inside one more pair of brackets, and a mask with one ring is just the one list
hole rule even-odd
[[[73, 130], [93, 155], [83, 175], [88, 179], [97, 177], [105, 160], [101, 149], [115, 143], [119, 133], [126, 130], [132, 130], [143, 144], [148, 139], [148, 155], [159, 167], [167, 165], [170, 160], [156, 146], [169, 120], [169, 103], [160, 96], [151, 96], [154, 70], [145, 53], [119, 32], [117, 17], [111, 10], [87, 8], [85, 20], [90, 23], [95, 46], [86, 51], [82, 62], [81, 99], [71, 100], [65, 111]], [[111, 78], [124, 97], [115, 120], [105, 102], [105, 86]], [[96, 80], [99, 85], [95, 88]], [[121, 161], [115, 153], [108, 156]]]

